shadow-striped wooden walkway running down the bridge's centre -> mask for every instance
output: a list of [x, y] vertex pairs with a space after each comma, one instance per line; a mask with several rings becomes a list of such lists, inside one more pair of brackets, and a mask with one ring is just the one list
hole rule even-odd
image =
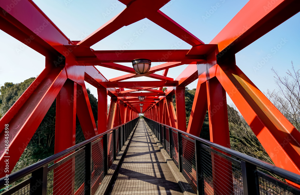
[[137, 125], [109, 194], [183, 194], [144, 119]]

